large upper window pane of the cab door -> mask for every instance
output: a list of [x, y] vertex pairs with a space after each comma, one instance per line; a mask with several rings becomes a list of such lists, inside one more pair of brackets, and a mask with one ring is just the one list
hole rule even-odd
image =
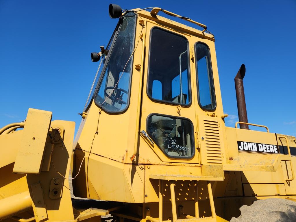
[[188, 59], [186, 38], [153, 28], [150, 39], [148, 96], [166, 103], [188, 105], [191, 102]]

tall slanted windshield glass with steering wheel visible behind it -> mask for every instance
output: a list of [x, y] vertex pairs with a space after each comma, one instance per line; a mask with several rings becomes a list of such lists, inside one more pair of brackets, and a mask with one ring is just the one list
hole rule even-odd
[[128, 106], [135, 19], [133, 12], [124, 15], [100, 78], [95, 102], [107, 112], [122, 112]]

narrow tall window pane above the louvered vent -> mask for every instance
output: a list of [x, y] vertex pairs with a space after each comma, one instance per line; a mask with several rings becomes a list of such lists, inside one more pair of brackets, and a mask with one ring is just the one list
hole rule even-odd
[[204, 110], [216, 108], [210, 50], [206, 44], [195, 44], [198, 102]]

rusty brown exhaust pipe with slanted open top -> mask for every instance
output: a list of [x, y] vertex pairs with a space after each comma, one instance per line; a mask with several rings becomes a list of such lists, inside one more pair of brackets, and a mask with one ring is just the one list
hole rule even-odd
[[[239, 122], [248, 122], [246, 100], [244, 98], [244, 82], [243, 78], [246, 74], [246, 67], [244, 64], [241, 65], [237, 75], [234, 77], [235, 93], [237, 94], [237, 112], [239, 114]], [[239, 124], [241, 129], [249, 129], [246, 124]]]

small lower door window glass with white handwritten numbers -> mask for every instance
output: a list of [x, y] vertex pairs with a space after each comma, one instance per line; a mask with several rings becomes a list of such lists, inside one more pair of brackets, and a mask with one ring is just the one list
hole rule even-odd
[[148, 134], [172, 158], [190, 158], [194, 155], [193, 126], [183, 118], [162, 115], [148, 117]]

